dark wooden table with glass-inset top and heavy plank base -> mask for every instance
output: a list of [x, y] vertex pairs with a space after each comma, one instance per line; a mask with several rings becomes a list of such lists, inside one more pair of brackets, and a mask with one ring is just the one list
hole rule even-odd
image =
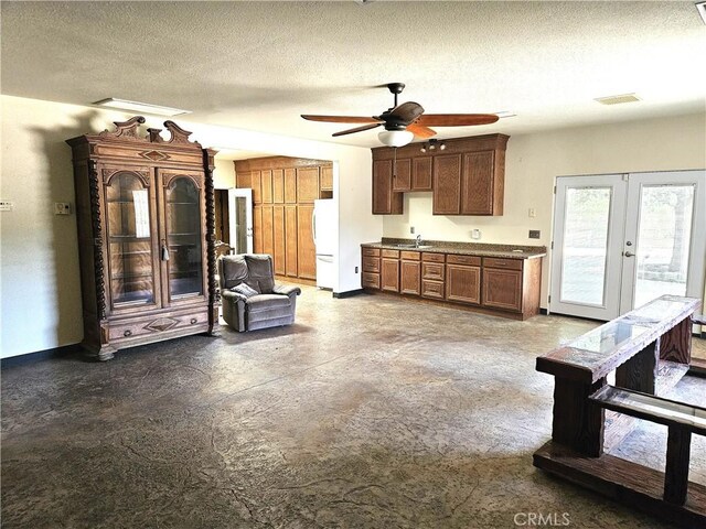
[[[654, 399], [650, 414], [643, 406], [642, 418], [663, 420], [656, 410], [668, 401], [655, 395], [689, 370], [692, 326], [703, 322], [693, 317], [699, 304], [694, 298], [663, 295], [538, 357], [537, 370], [554, 375], [555, 388], [552, 440], [535, 452], [534, 465], [672, 522], [706, 528], [706, 486], [689, 483], [686, 493], [684, 485], [686, 438], [696, 430], [667, 424], [674, 429], [667, 441], [673, 446], [668, 477], [603, 453], [605, 445], [618, 445], [639, 417], [640, 411], [619, 409], [618, 396]], [[607, 386], [613, 373], [620, 388]]]

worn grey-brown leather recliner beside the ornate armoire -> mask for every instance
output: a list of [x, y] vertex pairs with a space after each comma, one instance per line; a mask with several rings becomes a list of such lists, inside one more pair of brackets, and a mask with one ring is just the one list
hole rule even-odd
[[216, 261], [223, 319], [238, 332], [295, 323], [299, 287], [275, 283], [265, 253], [222, 256]]

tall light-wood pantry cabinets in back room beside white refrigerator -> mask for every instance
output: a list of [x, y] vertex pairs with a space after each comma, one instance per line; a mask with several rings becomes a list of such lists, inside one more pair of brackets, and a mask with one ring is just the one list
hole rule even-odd
[[332, 198], [333, 164], [267, 156], [236, 160], [237, 187], [253, 190], [253, 246], [272, 256], [275, 273], [315, 280], [313, 201]]

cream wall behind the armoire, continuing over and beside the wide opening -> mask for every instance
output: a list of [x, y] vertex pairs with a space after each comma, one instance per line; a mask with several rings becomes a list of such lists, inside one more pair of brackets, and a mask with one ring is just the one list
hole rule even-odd
[[[0, 97], [2, 164], [0, 199], [0, 357], [76, 344], [83, 338], [76, 217], [53, 214], [55, 202], [74, 198], [71, 149], [64, 142], [132, 115], [93, 107]], [[145, 127], [163, 128], [148, 117]], [[336, 162], [334, 196], [340, 207], [339, 277], [335, 292], [360, 288], [360, 244], [379, 239], [382, 219], [370, 212], [371, 151], [208, 127], [176, 118], [204, 147], [272, 152]], [[216, 159], [215, 186], [232, 187], [233, 162]]]

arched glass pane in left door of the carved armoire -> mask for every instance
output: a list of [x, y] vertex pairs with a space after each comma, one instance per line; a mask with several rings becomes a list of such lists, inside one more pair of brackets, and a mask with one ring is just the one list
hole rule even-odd
[[120, 172], [106, 186], [109, 284], [113, 306], [154, 302], [149, 194], [133, 173]]

